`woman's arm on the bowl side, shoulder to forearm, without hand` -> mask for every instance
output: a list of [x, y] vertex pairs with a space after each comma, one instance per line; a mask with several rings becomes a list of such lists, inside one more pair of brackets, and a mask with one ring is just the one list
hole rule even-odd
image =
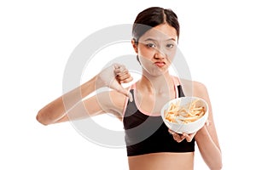
[[209, 106], [208, 125], [202, 127], [195, 134], [195, 141], [201, 152], [203, 160], [210, 169], [222, 168], [222, 155], [218, 143], [218, 136], [213, 122], [212, 105], [207, 93], [207, 88], [200, 82], [194, 82], [194, 95], [207, 101]]

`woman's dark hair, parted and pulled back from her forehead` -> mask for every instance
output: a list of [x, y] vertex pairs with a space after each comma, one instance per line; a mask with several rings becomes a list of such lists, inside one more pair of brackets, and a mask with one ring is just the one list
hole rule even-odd
[[137, 15], [136, 20], [132, 26], [132, 36], [135, 42], [138, 42], [139, 38], [143, 34], [154, 26], [167, 23], [177, 31], [177, 39], [179, 37], [179, 23], [177, 15], [172, 9], [165, 9], [160, 7], [150, 7], [144, 9]]

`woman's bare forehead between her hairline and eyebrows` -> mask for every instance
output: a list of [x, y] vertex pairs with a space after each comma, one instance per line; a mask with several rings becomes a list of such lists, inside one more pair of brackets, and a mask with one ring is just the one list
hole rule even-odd
[[146, 31], [141, 37], [141, 39], [144, 40], [148, 37], [154, 37], [154, 39], [156, 40], [173, 39], [177, 41], [177, 31], [172, 26], [169, 26], [167, 24], [162, 24], [159, 26], [155, 26], [150, 30]]

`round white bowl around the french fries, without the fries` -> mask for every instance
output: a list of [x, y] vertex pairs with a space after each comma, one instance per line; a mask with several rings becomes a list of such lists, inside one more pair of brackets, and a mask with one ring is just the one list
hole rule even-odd
[[[169, 106], [172, 104], [177, 104], [180, 102], [180, 106], [187, 105], [194, 101], [195, 99], [198, 99], [198, 105], [204, 107], [204, 116], [201, 116], [201, 118], [197, 119], [195, 122], [170, 122], [166, 120], [165, 117], [165, 111], [168, 110]], [[207, 102], [204, 99], [196, 98], [196, 97], [181, 97], [177, 99], [172, 99], [169, 102], [166, 103], [166, 105], [163, 106], [161, 109], [161, 116], [163, 121], [166, 123], [166, 126], [169, 127], [172, 131], [176, 133], [195, 133], [201, 127], [204, 126], [204, 124], [207, 122], [208, 118], [208, 105]]]

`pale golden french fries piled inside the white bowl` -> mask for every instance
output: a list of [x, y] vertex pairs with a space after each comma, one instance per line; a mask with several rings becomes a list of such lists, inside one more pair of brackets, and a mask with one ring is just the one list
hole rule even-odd
[[200, 100], [195, 99], [189, 104], [181, 105], [180, 101], [171, 104], [164, 112], [164, 116], [169, 122], [189, 123], [195, 122], [205, 114], [205, 108], [200, 106]]

